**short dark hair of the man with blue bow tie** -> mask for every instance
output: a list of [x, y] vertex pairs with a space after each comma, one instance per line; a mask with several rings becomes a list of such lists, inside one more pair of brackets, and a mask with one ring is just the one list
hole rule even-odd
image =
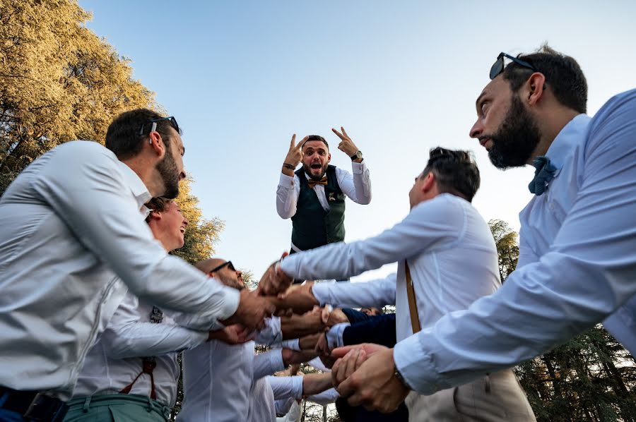
[[[527, 61], [546, 76], [546, 85], [552, 89], [558, 102], [579, 113], [587, 112], [587, 80], [575, 59], [557, 52], [548, 44], [543, 44], [534, 53], [519, 54], [517, 59]], [[504, 79], [510, 83], [510, 89], [517, 92], [531, 72], [531, 69], [513, 61], [506, 66]]]

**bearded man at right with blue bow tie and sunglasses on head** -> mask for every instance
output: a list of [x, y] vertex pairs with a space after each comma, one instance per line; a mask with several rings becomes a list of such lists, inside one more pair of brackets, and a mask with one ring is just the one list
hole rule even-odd
[[[519, 215], [519, 263], [503, 287], [395, 347], [396, 368], [422, 394], [517, 365], [599, 322], [636, 354], [636, 90], [590, 118], [581, 68], [547, 46], [500, 54], [490, 79], [470, 135], [497, 168], [536, 167], [535, 196]], [[382, 357], [341, 385], [354, 400], [380, 405]]]

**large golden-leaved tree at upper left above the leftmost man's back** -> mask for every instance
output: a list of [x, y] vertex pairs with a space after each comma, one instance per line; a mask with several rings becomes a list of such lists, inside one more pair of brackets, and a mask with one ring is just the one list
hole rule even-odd
[[117, 114], [158, 109], [88, 19], [74, 0], [0, 0], [0, 195], [52, 147], [104, 143]]

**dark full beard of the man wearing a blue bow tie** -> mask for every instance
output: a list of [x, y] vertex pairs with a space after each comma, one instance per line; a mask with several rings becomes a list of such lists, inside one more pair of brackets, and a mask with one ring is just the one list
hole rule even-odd
[[528, 163], [541, 140], [541, 133], [534, 116], [524, 107], [522, 100], [512, 95], [510, 109], [499, 130], [489, 138], [493, 146], [488, 150], [488, 158], [497, 169], [505, 170]]

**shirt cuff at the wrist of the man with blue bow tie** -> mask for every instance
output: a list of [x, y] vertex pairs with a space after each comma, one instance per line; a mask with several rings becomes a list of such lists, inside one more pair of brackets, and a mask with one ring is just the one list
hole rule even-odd
[[420, 394], [434, 394], [444, 390], [437, 378], [437, 371], [431, 358], [422, 349], [418, 334], [406, 337], [393, 349], [395, 367], [404, 377], [407, 384]]

